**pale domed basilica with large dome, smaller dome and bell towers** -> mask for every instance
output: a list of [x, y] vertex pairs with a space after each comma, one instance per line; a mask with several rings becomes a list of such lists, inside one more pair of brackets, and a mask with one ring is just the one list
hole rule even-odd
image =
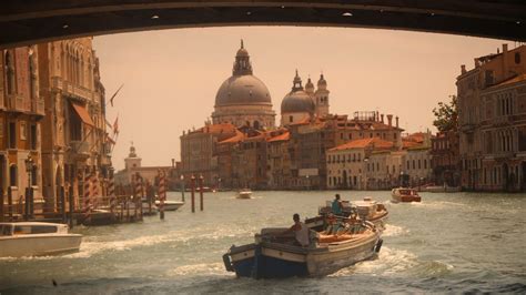
[[[323, 74], [317, 81], [317, 90], [308, 78], [305, 89], [302, 79], [294, 77], [293, 87], [281, 104], [281, 125], [303, 122], [313, 116], [328, 114], [328, 90]], [[252, 74], [249, 51], [243, 45], [235, 54], [232, 77], [221, 84], [215, 95], [214, 124], [231, 123], [236, 128], [272, 129], [275, 112], [272, 110], [271, 94], [266, 85]]]

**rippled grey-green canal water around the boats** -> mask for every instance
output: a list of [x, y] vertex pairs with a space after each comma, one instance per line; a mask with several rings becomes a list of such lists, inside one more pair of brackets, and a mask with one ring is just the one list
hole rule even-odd
[[186, 202], [165, 221], [75, 227], [84, 235], [78, 253], [0, 258], [0, 293], [526, 293], [524, 194], [423, 193], [422, 203], [392, 204], [388, 192], [340, 192], [386, 202], [376, 260], [321, 278], [254, 281], [224, 269], [231, 245], [253, 241], [261, 227], [291, 225], [293, 213], [314, 216], [334, 193], [208, 193], [204, 212], [198, 204], [192, 214]]

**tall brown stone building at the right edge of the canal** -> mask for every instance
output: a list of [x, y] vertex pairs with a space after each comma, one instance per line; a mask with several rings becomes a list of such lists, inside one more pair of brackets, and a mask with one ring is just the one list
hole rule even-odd
[[526, 47], [475, 59], [457, 78], [462, 186], [526, 189]]

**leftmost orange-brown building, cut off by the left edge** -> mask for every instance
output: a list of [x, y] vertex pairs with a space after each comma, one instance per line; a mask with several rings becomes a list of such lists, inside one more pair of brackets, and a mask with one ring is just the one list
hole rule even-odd
[[34, 45], [0, 51], [0, 193], [12, 189], [14, 213], [22, 212], [20, 197], [29, 185], [36, 210], [43, 206], [40, 134], [44, 101], [39, 91], [38, 51]]

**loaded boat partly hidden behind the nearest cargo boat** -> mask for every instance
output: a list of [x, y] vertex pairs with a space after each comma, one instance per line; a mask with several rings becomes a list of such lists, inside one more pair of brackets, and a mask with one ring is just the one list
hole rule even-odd
[[[326, 216], [332, 212], [332, 201], [326, 201], [325, 206], [318, 207], [316, 217], [306, 218], [305, 224], [312, 230], [322, 230], [325, 225]], [[372, 222], [378, 230], [385, 230], [388, 217], [388, 211], [384, 204], [374, 201], [370, 196], [365, 196], [362, 201], [342, 201], [342, 216], [338, 220], [348, 218], [353, 214], [362, 221]]]

